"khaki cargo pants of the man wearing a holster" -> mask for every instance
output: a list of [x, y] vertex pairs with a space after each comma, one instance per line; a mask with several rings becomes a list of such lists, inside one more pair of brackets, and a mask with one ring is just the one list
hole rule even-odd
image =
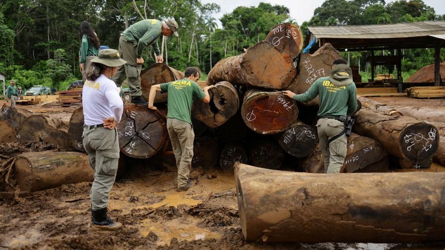
[[320, 118], [316, 126], [324, 158], [324, 172], [327, 174], [340, 173], [346, 157], [347, 138], [344, 134], [331, 143], [329, 143], [329, 139], [345, 130], [344, 123], [336, 119]]

